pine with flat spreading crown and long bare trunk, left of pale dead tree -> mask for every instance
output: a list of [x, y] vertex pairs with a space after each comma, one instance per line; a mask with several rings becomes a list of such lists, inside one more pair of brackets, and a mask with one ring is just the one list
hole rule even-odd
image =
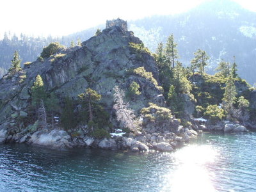
[[95, 102], [99, 102], [99, 100], [101, 99], [101, 95], [99, 93], [97, 93], [95, 90], [92, 90], [91, 88], [87, 88], [85, 90], [84, 93], [81, 93], [78, 95], [79, 100], [81, 100], [81, 102], [86, 102], [88, 104], [89, 107], [89, 118], [90, 118], [90, 122], [88, 124], [90, 124], [90, 127], [92, 129], [93, 132], [93, 109], [92, 109], [92, 104]]

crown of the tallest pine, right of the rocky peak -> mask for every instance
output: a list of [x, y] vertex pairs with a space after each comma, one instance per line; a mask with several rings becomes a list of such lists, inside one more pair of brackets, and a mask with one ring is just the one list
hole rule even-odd
[[174, 42], [173, 35], [168, 36], [166, 47], [165, 47], [165, 55], [168, 66], [174, 68], [175, 59], [179, 58], [177, 44]]

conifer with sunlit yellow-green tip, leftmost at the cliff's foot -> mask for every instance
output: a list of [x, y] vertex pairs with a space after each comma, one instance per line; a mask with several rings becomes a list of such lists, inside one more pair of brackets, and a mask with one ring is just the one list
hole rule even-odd
[[35, 108], [39, 106], [41, 100], [46, 99], [44, 81], [40, 75], [36, 76], [35, 82], [31, 87], [31, 98], [32, 98], [32, 106]]

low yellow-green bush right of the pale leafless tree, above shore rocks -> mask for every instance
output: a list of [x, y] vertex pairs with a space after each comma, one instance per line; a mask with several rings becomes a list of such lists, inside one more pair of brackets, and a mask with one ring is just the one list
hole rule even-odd
[[148, 118], [152, 122], [163, 122], [165, 120], [172, 120], [171, 110], [168, 108], [162, 108], [156, 104], [148, 103], [148, 108], [142, 108], [141, 114]]

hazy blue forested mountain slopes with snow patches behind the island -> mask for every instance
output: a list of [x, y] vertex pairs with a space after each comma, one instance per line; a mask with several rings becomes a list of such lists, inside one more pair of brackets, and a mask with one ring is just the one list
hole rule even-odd
[[[254, 59], [256, 56], [256, 13], [245, 10], [233, 1], [207, 1], [186, 13], [147, 17], [128, 22], [128, 25], [129, 30], [133, 31], [134, 35], [138, 36], [153, 52], [159, 42], [165, 42], [166, 38], [173, 34], [178, 43], [180, 61], [185, 65], [189, 65], [193, 52], [203, 49], [211, 56], [211, 65], [207, 68], [209, 72], [214, 72], [214, 68], [221, 59], [232, 63], [233, 57], [236, 56], [240, 76], [250, 84], [256, 82], [254, 76], [256, 73]], [[104, 27], [100, 25], [56, 40], [70, 46], [71, 40], [76, 41], [77, 38], [81, 38], [82, 41], [87, 40], [94, 35], [97, 28], [103, 29]], [[47, 44], [49, 42], [42, 43], [41, 41], [40, 46], [34, 45], [37, 48], [33, 48], [31, 58], [24, 57], [22, 53], [20, 56], [22, 59], [26, 58], [24, 62], [33, 61], [42, 51], [42, 47]], [[0, 41], [0, 47], [2, 45], [3, 41]], [[3, 76], [1, 67], [6, 72], [8, 63], [12, 60], [13, 49], [19, 51], [25, 47], [26, 45], [12, 45], [9, 52], [4, 52], [4, 59], [0, 53], [0, 76]]]

